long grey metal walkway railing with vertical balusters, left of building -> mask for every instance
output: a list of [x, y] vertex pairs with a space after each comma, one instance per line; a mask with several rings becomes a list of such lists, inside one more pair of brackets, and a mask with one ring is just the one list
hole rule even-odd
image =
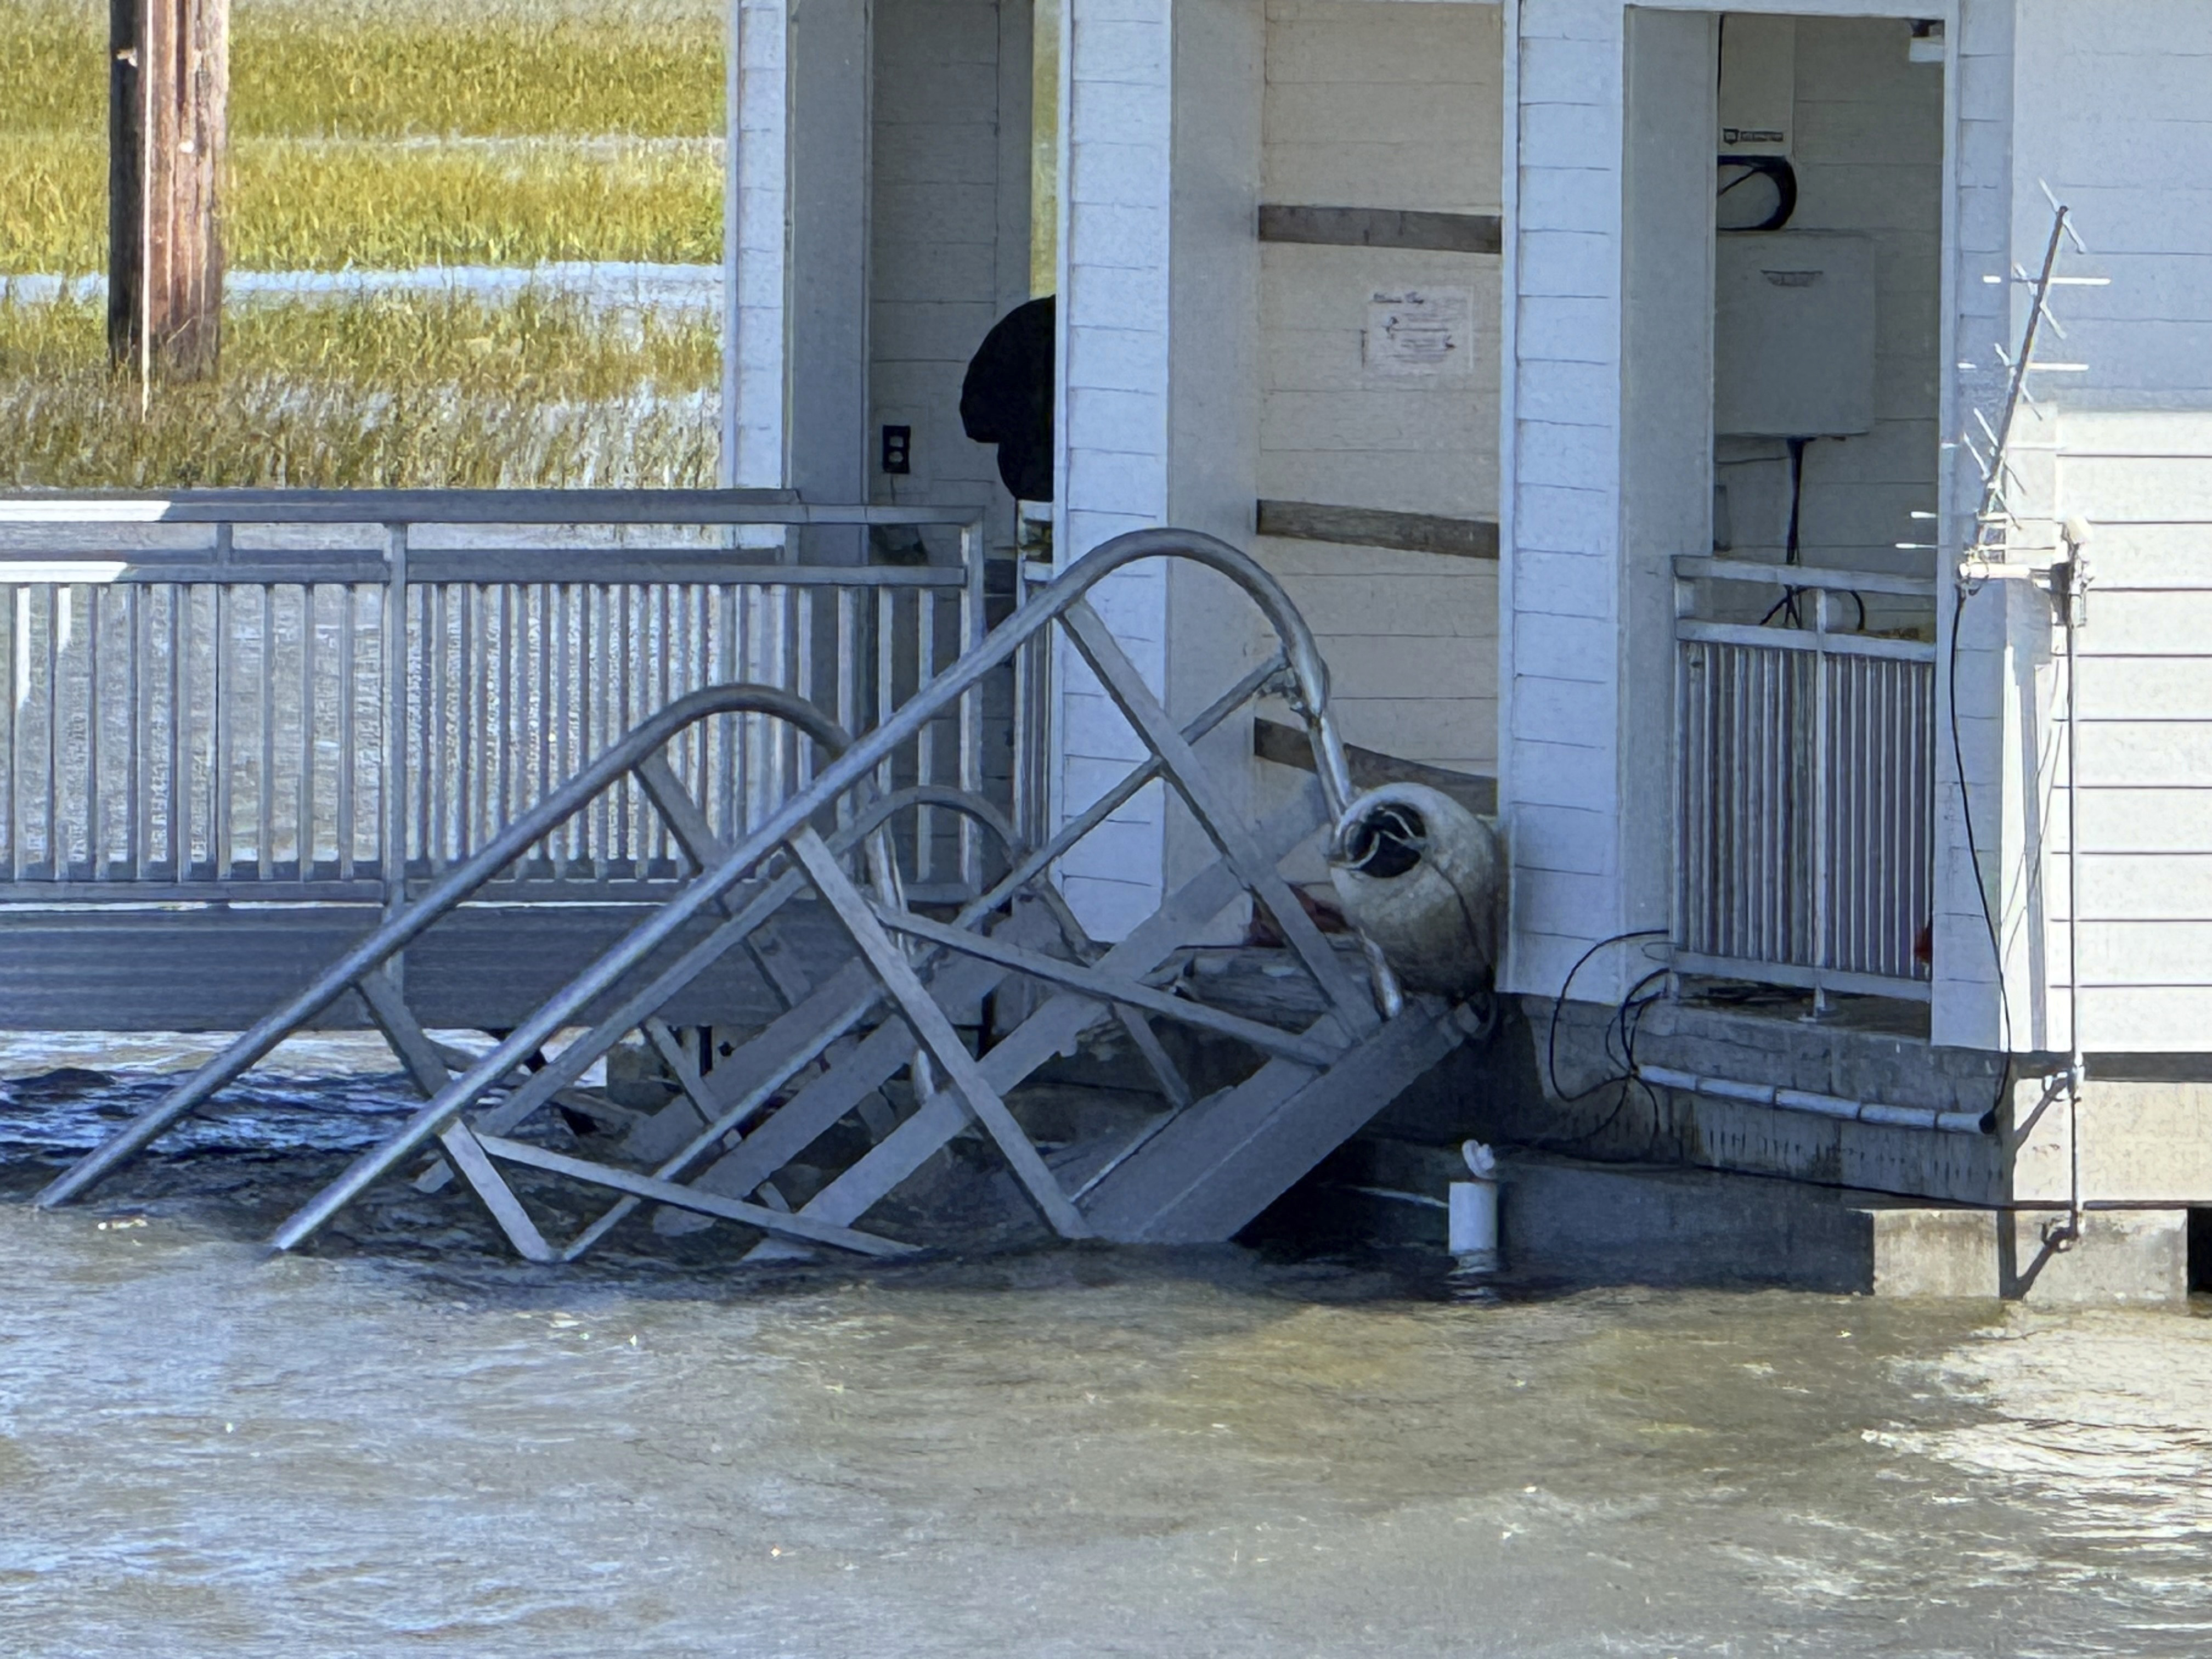
[[[911, 562], [867, 557], [867, 538]], [[823, 546], [830, 542], [830, 546]], [[843, 562], [821, 562], [823, 555]], [[0, 902], [392, 902], [650, 710], [770, 684], [867, 730], [984, 633], [973, 509], [783, 491], [192, 491], [0, 498]], [[989, 706], [989, 708], [987, 708]], [[878, 785], [1020, 799], [975, 690]], [[670, 763], [719, 834], [812, 750], [726, 714]], [[900, 825], [907, 878], [978, 891], [956, 814]], [[509, 900], [653, 896], [679, 847], [635, 785], [500, 878]]]

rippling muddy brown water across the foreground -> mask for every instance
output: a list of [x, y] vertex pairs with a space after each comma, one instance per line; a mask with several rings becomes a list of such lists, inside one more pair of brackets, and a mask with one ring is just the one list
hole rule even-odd
[[0, 1652], [2212, 1650], [2208, 1321], [1237, 1250], [531, 1270], [467, 1221], [265, 1261], [374, 1077], [24, 1208], [126, 1097], [0, 1104]]

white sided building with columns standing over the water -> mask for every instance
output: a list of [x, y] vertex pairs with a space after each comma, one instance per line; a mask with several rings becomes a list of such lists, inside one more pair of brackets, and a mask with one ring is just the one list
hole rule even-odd
[[[1975, 1150], [1672, 1091], [1699, 1161], [2159, 1239], [2212, 1203], [2212, 7], [743, 0], [739, 31], [732, 482], [991, 502], [960, 374], [1057, 292], [1060, 557], [1250, 546], [1347, 741], [1493, 776], [1509, 991], [1588, 958], [1604, 1013], [1655, 960], [1927, 1004], [1887, 1088], [1951, 1077], [1927, 1104], [1960, 1110], [2020, 1057]], [[1778, 215], [1783, 161], [1787, 223], [1730, 230]], [[2053, 204], [2079, 246], [2000, 562], [2090, 529], [2077, 768], [2051, 599], [1958, 582]], [[885, 425], [911, 476], [874, 469]], [[1206, 575], [1104, 599], [1177, 710], [1256, 646]], [[1212, 745], [1270, 790], [1248, 730]], [[1071, 666], [1062, 810], [1133, 752]], [[1190, 834], [1157, 792], [1099, 832], [1093, 929]], [[2033, 1110], [2075, 998], [2079, 1157], [2064, 1099]], [[1823, 1026], [1761, 1029], [1677, 1071], [1885, 1104]]]

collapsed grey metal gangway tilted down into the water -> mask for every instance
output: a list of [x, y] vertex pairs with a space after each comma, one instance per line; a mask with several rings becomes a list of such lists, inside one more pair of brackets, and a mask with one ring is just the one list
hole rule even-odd
[[[1113, 571], [1146, 557], [1190, 560], [1221, 573], [1245, 591], [1276, 637], [1267, 661], [1188, 723], [1168, 714], [1086, 597]], [[1002, 814], [971, 792], [949, 785], [878, 792], [885, 757], [1053, 630], [1088, 664], [1148, 759], [1035, 847], [1020, 845]], [[1252, 823], [1192, 745], [1245, 703], [1272, 695], [1285, 697], [1305, 721], [1316, 776]], [[730, 712], [785, 721], [821, 754], [812, 785], [734, 845], [714, 832], [666, 759], [686, 730]], [[487, 1055], [442, 1048], [407, 1004], [407, 947], [624, 779], [635, 779], [688, 856], [679, 891]], [[1055, 874], [1077, 843], [1159, 779], [1188, 805], [1217, 856], [1121, 940], [1095, 945], [1062, 900]], [[1002, 849], [1004, 874], [949, 918], [907, 902], [885, 834], [898, 814], [920, 807], [964, 814]], [[60, 1206], [86, 1194], [288, 1035], [358, 998], [427, 1099], [276, 1230], [279, 1250], [312, 1239], [378, 1181], [434, 1159], [416, 1170], [418, 1183], [436, 1188], [458, 1172], [531, 1261], [573, 1261], [641, 1206], [734, 1221], [790, 1245], [896, 1256], [914, 1245], [858, 1223], [971, 1126], [995, 1144], [1037, 1212], [1066, 1239], [1228, 1239], [1480, 1029], [1464, 1002], [1402, 991], [1371, 942], [1338, 949], [1281, 874], [1285, 856], [1316, 834], [1340, 843], [1356, 825], [1327, 670], [1287, 595], [1223, 542], [1139, 531], [1040, 588], [860, 739], [849, 739], [812, 703], [768, 686], [717, 686], [670, 703], [71, 1166], [38, 1201]], [[1318, 995], [1321, 1013], [1303, 1029], [1210, 1004], [1199, 982], [1179, 975], [1186, 949], [1239, 898], [1267, 916]], [[779, 951], [779, 929], [803, 916], [832, 918], [845, 945], [841, 964], [816, 978]], [[732, 951], [752, 956], [783, 1013], [703, 1071], [672, 1040], [661, 1011]], [[975, 1053], [956, 1015], [1009, 984], [1029, 987], [1029, 1011]], [[1157, 1110], [1102, 1157], [1062, 1172], [1024, 1133], [1006, 1097], [1104, 1020], [1117, 1022], [1144, 1057]], [[1197, 1095], [1155, 1022], [1228, 1040], [1250, 1055], [1252, 1068]], [[560, 1042], [580, 1026], [582, 1035]], [[546, 1110], [633, 1033], [655, 1044], [677, 1097], [635, 1124], [608, 1157], [544, 1144], [555, 1137], [531, 1139], [533, 1124], [546, 1121]], [[911, 1102], [902, 1117], [887, 1113], [883, 1093], [900, 1075], [911, 1084], [898, 1091]], [[779, 1170], [849, 1117], [867, 1119], [867, 1150], [803, 1206], [785, 1208], [774, 1186]], [[509, 1183], [513, 1168], [580, 1183], [602, 1194], [606, 1208], [568, 1237], [551, 1239]]]

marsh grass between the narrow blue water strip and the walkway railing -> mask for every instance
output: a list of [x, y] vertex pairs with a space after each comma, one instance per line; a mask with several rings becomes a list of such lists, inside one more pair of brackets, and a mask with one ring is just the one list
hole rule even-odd
[[97, 305], [0, 303], [0, 487], [699, 487], [717, 363], [710, 316], [303, 299], [234, 310], [221, 376], [142, 409]]

